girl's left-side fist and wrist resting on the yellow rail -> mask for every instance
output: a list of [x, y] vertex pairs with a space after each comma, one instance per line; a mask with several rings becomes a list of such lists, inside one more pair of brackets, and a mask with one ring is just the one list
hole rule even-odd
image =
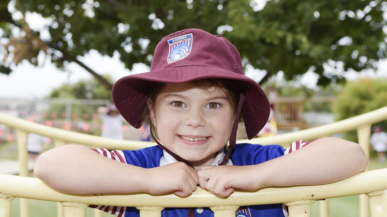
[[152, 194], [173, 192], [187, 197], [197, 188], [197, 171], [182, 162], [150, 168], [147, 173], [147, 192]]

